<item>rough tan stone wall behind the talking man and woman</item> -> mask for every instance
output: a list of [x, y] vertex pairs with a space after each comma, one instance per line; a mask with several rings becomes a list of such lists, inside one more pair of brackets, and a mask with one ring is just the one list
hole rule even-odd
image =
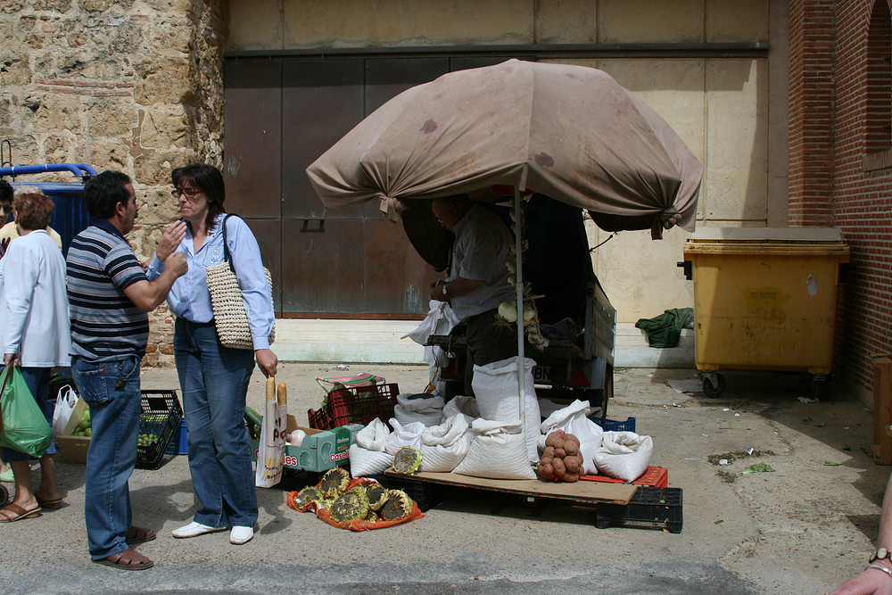
[[[140, 260], [178, 219], [170, 170], [222, 164], [221, 15], [220, 0], [0, 6], [0, 139], [10, 141], [12, 164], [82, 162], [134, 178], [139, 217], [128, 240]], [[171, 336], [161, 306], [147, 363], [172, 363]]]

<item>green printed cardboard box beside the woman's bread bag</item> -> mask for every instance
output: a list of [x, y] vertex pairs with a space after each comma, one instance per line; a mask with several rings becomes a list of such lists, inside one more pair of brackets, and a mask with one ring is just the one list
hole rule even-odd
[[[356, 442], [356, 434], [363, 427], [361, 424], [349, 424], [334, 430], [316, 430], [298, 426], [297, 419], [289, 415], [288, 433], [303, 430], [307, 436], [300, 446], [285, 444], [285, 467], [306, 471], [326, 471], [335, 467], [349, 458], [350, 445]], [[250, 442], [253, 459], [257, 460], [259, 442]]]

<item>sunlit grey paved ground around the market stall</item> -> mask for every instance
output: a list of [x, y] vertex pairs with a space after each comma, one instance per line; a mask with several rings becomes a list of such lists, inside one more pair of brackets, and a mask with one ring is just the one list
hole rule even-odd
[[[291, 410], [306, 419], [322, 389], [318, 365], [285, 365]], [[363, 366], [419, 392], [426, 369]], [[536, 507], [491, 492], [447, 492], [407, 525], [350, 533], [299, 514], [280, 490], [259, 490], [260, 531], [236, 547], [227, 533], [174, 540], [191, 519], [185, 457], [130, 481], [135, 521], [159, 532], [139, 547], [156, 566], [139, 573], [89, 563], [84, 466], [58, 466], [68, 506], [0, 525], [0, 585], [13, 593], [822, 593], [860, 572], [879, 523], [889, 468], [865, 453], [872, 414], [832, 384], [804, 403], [797, 376], [729, 373], [721, 399], [677, 393], [692, 370], [616, 374], [613, 419], [636, 417], [654, 438], [652, 464], [683, 489], [684, 527], [597, 529], [588, 508]], [[259, 408], [255, 373], [249, 400]], [[144, 388], [176, 388], [171, 370], [148, 369]], [[732, 454], [754, 449], [735, 459]], [[761, 453], [761, 454], [760, 454]], [[718, 455], [718, 457], [714, 457]], [[758, 455], [758, 456], [757, 456]], [[729, 459], [726, 466], [714, 459]], [[743, 474], [769, 464], [773, 473]], [[37, 479], [37, 473], [35, 473]], [[10, 486], [10, 484], [5, 484]]]

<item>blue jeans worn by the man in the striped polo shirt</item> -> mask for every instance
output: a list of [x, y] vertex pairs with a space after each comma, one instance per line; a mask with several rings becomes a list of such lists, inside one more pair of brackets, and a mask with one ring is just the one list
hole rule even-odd
[[90, 556], [98, 560], [127, 550], [132, 523], [128, 480], [136, 465], [139, 433], [139, 358], [71, 361], [80, 397], [90, 406], [93, 435], [87, 451], [84, 516]]

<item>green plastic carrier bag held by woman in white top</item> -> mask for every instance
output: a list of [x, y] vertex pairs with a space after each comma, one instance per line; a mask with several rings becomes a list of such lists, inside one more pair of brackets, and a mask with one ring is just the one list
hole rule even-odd
[[0, 446], [42, 457], [53, 442], [53, 428], [31, 396], [18, 366], [0, 373]]

